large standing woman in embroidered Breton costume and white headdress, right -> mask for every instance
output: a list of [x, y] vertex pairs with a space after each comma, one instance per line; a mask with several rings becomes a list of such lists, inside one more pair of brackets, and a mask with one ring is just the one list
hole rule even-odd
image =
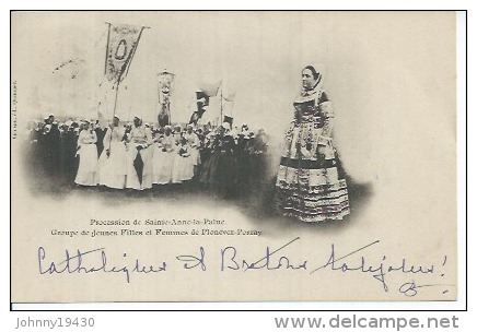
[[277, 206], [302, 222], [342, 220], [350, 213], [348, 189], [331, 130], [334, 111], [323, 90], [323, 71], [302, 71], [303, 91], [293, 103], [277, 177]]

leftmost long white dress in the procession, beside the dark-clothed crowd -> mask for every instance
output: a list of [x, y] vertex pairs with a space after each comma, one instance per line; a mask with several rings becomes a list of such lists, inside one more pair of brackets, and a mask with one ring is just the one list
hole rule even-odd
[[78, 154], [80, 155], [80, 166], [78, 167], [74, 182], [81, 186], [97, 185], [97, 137], [94, 131], [82, 130], [78, 137]]

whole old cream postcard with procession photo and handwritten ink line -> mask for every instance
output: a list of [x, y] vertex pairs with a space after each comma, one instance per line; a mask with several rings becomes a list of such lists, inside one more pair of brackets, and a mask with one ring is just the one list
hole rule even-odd
[[454, 12], [12, 12], [13, 303], [456, 300]]

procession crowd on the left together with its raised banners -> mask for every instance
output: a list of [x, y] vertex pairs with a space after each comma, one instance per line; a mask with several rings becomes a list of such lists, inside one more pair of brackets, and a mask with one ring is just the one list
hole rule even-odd
[[[120, 86], [146, 28], [107, 23], [100, 85], [110, 86], [109, 100], [100, 96], [91, 118], [71, 117], [67, 109], [60, 116], [48, 114], [30, 121], [25, 134], [30, 167], [36, 175], [73, 187], [142, 191], [153, 186], [194, 182], [221, 195], [233, 194], [265, 167], [268, 137], [263, 129], [254, 132], [246, 123], [234, 124], [235, 94], [223, 94], [222, 80], [198, 85], [191, 92], [196, 100], [187, 109], [188, 121], [175, 117], [175, 74], [167, 70], [156, 73], [155, 107], [146, 110], [149, 119], [154, 114], [155, 121], [144, 121], [141, 114], [133, 116], [131, 110], [129, 117], [117, 114], [124, 91]], [[65, 61], [53, 75], [72, 64]], [[135, 102], [130, 100], [130, 108]]]

